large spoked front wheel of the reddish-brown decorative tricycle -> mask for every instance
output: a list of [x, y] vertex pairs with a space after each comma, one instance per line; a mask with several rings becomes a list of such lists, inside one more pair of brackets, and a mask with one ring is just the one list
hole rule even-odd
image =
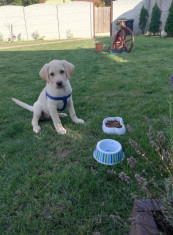
[[134, 36], [128, 27], [121, 28], [115, 38], [115, 49], [118, 53], [129, 53], [134, 44]]

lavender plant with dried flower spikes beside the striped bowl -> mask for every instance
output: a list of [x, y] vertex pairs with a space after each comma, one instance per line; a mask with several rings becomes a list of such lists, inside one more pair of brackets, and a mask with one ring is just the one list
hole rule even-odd
[[[149, 143], [157, 154], [155, 163], [153, 164], [151, 162], [151, 157], [140, 144], [133, 139], [129, 139], [129, 143], [134, 148], [137, 155], [141, 156], [139, 161], [145, 161], [144, 164], [150, 170], [150, 173], [148, 174], [148, 169], [143, 169], [141, 172], [138, 172], [136, 168], [138, 162], [131, 156], [130, 158], [127, 158], [127, 163], [132, 172], [131, 177], [126, 173], [121, 172], [119, 178], [131, 185], [134, 185], [137, 181], [141, 192], [143, 192], [147, 198], [151, 199], [153, 208], [159, 206], [160, 213], [156, 214], [156, 212], [153, 212], [153, 215], [157, 217], [156, 219], [158, 221], [163, 222], [161, 229], [164, 234], [168, 234], [168, 225], [171, 225], [172, 227], [169, 227], [169, 229], [171, 229], [171, 231], [173, 230], [173, 152], [163, 131], [157, 131], [157, 133], [155, 133], [150, 123], [150, 119], [146, 116], [144, 118], [149, 124], [147, 133]], [[130, 131], [131, 130], [132, 128], [130, 127]], [[152, 150], [151, 154], [153, 154]], [[157, 179], [158, 175], [162, 176], [161, 180]], [[133, 194], [133, 197], [134, 195], [135, 194]], [[136, 193], [135, 198], [139, 198], [138, 193]], [[159, 205], [158, 200], [156, 200], [157, 198], [159, 198], [162, 206]], [[134, 220], [133, 223], [135, 222], [136, 221]]]

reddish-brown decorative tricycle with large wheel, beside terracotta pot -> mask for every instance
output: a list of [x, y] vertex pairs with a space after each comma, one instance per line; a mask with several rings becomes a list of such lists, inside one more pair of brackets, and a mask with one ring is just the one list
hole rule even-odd
[[132, 31], [126, 27], [127, 20], [118, 20], [120, 29], [115, 32], [112, 48], [109, 47], [109, 52], [130, 53], [134, 44], [134, 35]]

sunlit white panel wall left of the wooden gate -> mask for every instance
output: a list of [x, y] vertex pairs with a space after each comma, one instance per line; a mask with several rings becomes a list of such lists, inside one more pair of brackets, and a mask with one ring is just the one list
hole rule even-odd
[[37, 32], [44, 39], [93, 37], [93, 3], [69, 2], [60, 5], [35, 4], [27, 7], [0, 7], [0, 34], [10, 36], [9, 27], [22, 40], [32, 40]]

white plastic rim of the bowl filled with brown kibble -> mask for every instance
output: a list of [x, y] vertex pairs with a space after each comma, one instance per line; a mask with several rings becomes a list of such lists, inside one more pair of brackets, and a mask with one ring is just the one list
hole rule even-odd
[[[112, 120], [119, 121], [122, 127], [121, 128], [107, 127], [106, 122], [107, 121], [112, 121]], [[121, 117], [107, 117], [107, 118], [105, 118], [103, 120], [102, 130], [107, 134], [123, 135], [123, 134], [126, 133], [126, 128], [124, 126], [124, 122], [123, 122], [123, 119]]]

